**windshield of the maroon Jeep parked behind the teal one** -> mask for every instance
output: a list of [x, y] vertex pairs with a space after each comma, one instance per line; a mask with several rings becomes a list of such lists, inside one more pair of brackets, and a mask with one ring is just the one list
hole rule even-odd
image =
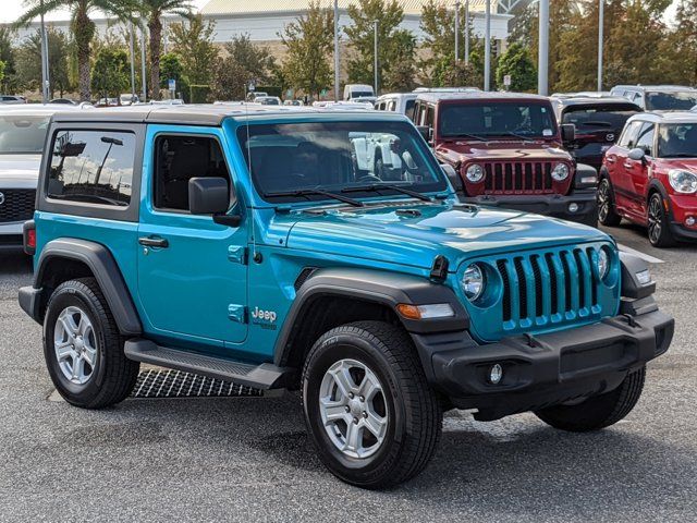
[[439, 117], [441, 137], [510, 136], [526, 138], [557, 136], [552, 109], [529, 102], [444, 104]]

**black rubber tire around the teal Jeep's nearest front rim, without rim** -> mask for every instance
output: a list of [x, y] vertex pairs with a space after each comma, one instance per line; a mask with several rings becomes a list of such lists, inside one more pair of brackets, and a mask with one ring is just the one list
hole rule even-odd
[[[345, 358], [366, 365], [386, 392], [384, 439], [367, 458], [345, 455], [321, 421], [322, 379]], [[403, 329], [382, 321], [344, 325], [317, 340], [303, 370], [303, 404], [321, 461], [340, 479], [358, 487], [386, 488], [414, 477], [426, 467], [440, 439], [442, 412], [412, 340]]]

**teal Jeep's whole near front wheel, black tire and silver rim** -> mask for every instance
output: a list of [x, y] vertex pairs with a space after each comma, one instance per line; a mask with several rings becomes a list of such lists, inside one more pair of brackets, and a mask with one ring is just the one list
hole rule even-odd
[[441, 433], [440, 405], [412, 340], [381, 321], [344, 325], [315, 343], [303, 372], [303, 402], [325, 465], [363, 488], [418, 474]]

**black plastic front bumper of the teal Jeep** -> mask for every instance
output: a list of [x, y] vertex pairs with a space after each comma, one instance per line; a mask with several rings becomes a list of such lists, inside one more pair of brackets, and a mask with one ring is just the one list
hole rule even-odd
[[[655, 306], [649, 311], [485, 345], [463, 332], [413, 338], [421, 358], [430, 358], [435, 388], [456, 408], [477, 409], [478, 419], [497, 419], [616, 388], [671, 343], [673, 318]], [[503, 368], [498, 385], [488, 380], [494, 364]]]

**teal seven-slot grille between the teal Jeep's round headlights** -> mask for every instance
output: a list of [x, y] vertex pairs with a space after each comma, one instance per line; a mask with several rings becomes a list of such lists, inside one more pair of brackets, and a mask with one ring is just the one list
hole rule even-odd
[[599, 313], [597, 257], [592, 247], [575, 247], [497, 259], [504, 330]]

